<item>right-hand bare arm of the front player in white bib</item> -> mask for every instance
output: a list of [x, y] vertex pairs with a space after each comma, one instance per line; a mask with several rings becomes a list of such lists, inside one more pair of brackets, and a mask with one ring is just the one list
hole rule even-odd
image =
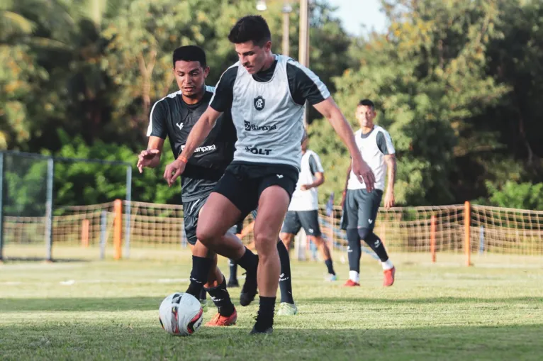
[[369, 165], [362, 159], [362, 155], [357, 148], [357, 143], [354, 141], [352, 128], [337, 107], [337, 104], [335, 104], [334, 99], [329, 96], [328, 99], [313, 106], [315, 106], [315, 109], [317, 109], [319, 113], [328, 119], [337, 135], [340, 135], [343, 143], [347, 145], [347, 149], [352, 157], [352, 171], [359, 178], [360, 182], [362, 182], [362, 180], [364, 181], [366, 189], [372, 191], [375, 183], [374, 172], [371, 171]]

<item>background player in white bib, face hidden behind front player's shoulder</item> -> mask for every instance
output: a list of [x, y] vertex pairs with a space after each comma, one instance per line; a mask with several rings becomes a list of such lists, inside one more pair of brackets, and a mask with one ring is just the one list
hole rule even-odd
[[303, 227], [308, 239], [317, 245], [323, 256], [328, 274], [325, 279], [335, 281], [337, 279], [332, 265], [330, 249], [326, 245], [320, 233], [318, 223], [318, 192], [317, 187], [324, 183], [324, 169], [320, 164], [320, 158], [313, 150], [308, 150], [308, 138], [302, 143], [302, 160], [300, 175], [296, 190], [292, 194], [289, 211], [286, 212], [283, 228], [279, 238], [285, 243], [286, 249], [290, 249], [294, 236]]

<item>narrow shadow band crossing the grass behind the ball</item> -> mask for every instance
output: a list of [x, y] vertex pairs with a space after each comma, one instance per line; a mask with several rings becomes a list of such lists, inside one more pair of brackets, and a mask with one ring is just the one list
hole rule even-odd
[[[237, 291], [231, 293], [234, 304], [239, 304]], [[162, 297], [118, 297], [118, 298], [40, 298], [40, 299], [0, 299], [0, 312], [21, 311], [150, 311], [157, 310]], [[208, 297], [209, 305], [213, 307]], [[466, 297], [435, 297], [427, 299], [354, 299], [354, 298], [314, 298], [303, 299], [303, 304], [362, 304], [362, 305], [403, 305], [403, 304], [479, 304], [479, 303], [527, 303], [543, 307], [543, 298], [540, 297], [512, 297], [512, 298], [466, 298]], [[254, 301], [253, 304], [257, 304]], [[335, 313], [332, 311], [325, 313]], [[340, 311], [338, 311], [339, 313]], [[312, 311], [312, 313], [314, 313]]]

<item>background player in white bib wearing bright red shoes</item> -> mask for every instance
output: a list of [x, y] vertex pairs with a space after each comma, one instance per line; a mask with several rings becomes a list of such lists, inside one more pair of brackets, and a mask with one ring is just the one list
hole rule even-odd
[[347, 171], [347, 182], [343, 191], [343, 217], [342, 229], [347, 231], [347, 256], [349, 258], [349, 279], [347, 287], [360, 286], [360, 240], [369, 245], [379, 256], [383, 265], [385, 287], [392, 286], [396, 267], [388, 258], [381, 239], [374, 233], [375, 218], [381, 197], [385, 189], [385, 176], [388, 169], [388, 184], [385, 194], [385, 209], [394, 206], [394, 181], [396, 179], [396, 156], [391, 135], [384, 128], [374, 124], [376, 116], [373, 101], [364, 99], [359, 102], [356, 112], [360, 129], [354, 133], [357, 147], [364, 160], [369, 163], [375, 175], [375, 189], [368, 191], [365, 182], [352, 172]]

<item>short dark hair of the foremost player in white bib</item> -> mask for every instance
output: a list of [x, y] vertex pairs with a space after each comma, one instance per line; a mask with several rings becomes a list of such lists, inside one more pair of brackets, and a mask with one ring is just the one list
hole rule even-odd
[[249, 15], [240, 18], [228, 34], [230, 43], [240, 44], [252, 41], [254, 45], [262, 47], [271, 40], [268, 23], [262, 16]]

